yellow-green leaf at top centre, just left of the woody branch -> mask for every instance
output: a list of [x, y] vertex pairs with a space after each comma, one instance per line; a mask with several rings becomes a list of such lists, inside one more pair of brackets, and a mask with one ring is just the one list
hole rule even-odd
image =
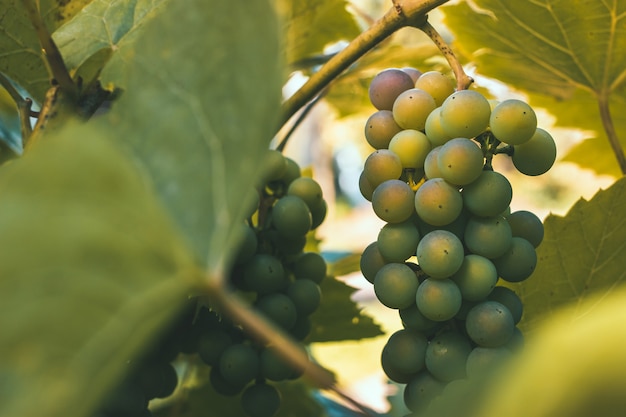
[[276, 0], [283, 31], [287, 63], [323, 52], [324, 47], [352, 40], [360, 32], [344, 0]]

